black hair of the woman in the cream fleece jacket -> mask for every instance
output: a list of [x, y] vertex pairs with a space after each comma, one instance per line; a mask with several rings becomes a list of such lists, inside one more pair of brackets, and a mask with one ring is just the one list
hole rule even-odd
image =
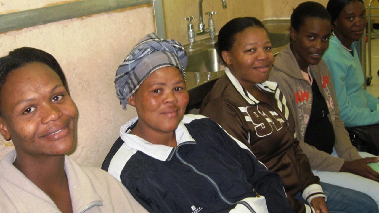
[[69, 92], [66, 77], [64, 76], [63, 70], [54, 56], [36, 48], [21, 47], [0, 58], [0, 94], [8, 74], [11, 73], [12, 70], [32, 62], [44, 63], [54, 70], [54, 72], [61, 79], [64, 88], [66, 88], [67, 92]]

